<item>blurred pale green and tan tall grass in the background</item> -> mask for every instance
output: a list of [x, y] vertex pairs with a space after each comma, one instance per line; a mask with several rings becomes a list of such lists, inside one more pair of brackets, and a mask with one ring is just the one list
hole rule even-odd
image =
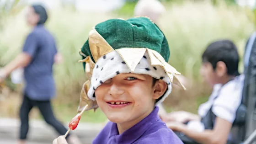
[[[0, 0], [0, 67], [21, 52], [29, 27], [25, 21], [26, 5], [43, 3], [48, 9], [46, 27], [58, 43], [64, 62], [54, 66], [54, 79], [58, 89], [53, 101], [54, 112], [63, 122], [75, 116], [80, 90], [86, 77], [79, 55], [80, 47], [89, 31], [101, 21], [110, 18], [133, 17], [138, 0]], [[207, 44], [229, 38], [239, 48], [240, 72], [246, 40], [255, 30], [256, 0], [160, 0], [165, 13], [158, 25], [167, 37], [171, 55], [169, 63], [192, 86], [187, 91], [173, 90], [164, 101], [168, 112], [186, 110], [197, 112], [197, 107], [208, 100], [211, 89], [199, 75], [201, 55]], [[22, 85], [8, 78], [0, 89], [0, 118], [18, 118]], [[37, 109], [30, 119], [41, 119]], [[101, 123], [106, 117], [97, 109], [85, 112], [82, 122]]]

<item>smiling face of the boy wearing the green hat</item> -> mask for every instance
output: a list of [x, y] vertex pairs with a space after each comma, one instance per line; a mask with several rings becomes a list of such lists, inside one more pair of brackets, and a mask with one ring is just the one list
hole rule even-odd
[[[167, 85], [159, 80], [153, 85], [150, 75], [119, 74], [101, 84], [95, 91], [96, 101], [107, 118], [114, 123], [138, 123], [152, 112], [155, 100]], [[139, 120], [139, 121], [137, 121]]]

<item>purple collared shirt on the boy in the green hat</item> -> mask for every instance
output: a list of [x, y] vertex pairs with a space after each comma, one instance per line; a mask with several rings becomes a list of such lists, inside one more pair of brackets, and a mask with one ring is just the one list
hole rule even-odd
[[118, 133], [117, 123], [108, 122], [93, 144], [183, 144], [158, 116], [158, 107], [132, 128]]

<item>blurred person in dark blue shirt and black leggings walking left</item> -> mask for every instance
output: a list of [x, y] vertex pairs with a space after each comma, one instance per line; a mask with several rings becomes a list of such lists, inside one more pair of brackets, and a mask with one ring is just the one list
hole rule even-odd
[[[33, 27], [23, 45], [22, 53], [0, 69], [0, 82], [17, 68], [24, 68], [25, 88], [20, 108], [20, 138], [18, 144], [25, 144], [29, 128], [29, 112], [38, 107], [44, 120], [64, 135], [67, 129], [54, 117], [51, 99], [55, 96], [53, 64], [61, 63], [54, 37], [44, 27], [47, 11], [42, 5], [31, 5], [27, 10], [27, 24]], [[76, 136], [68, 135], [73, 144], [80, 144]]]

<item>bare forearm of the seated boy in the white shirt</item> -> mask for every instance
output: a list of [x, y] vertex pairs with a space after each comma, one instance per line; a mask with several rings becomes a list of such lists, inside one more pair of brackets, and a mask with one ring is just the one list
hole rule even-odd
[[186, 125], [173, 124], [169, 126], [174, 131], [183, 132], [187, 137], [202, 144], [226, 144], [232, 123], [220, 117], [216, 117], [213, 130], [197, 132], [187, 129]]

